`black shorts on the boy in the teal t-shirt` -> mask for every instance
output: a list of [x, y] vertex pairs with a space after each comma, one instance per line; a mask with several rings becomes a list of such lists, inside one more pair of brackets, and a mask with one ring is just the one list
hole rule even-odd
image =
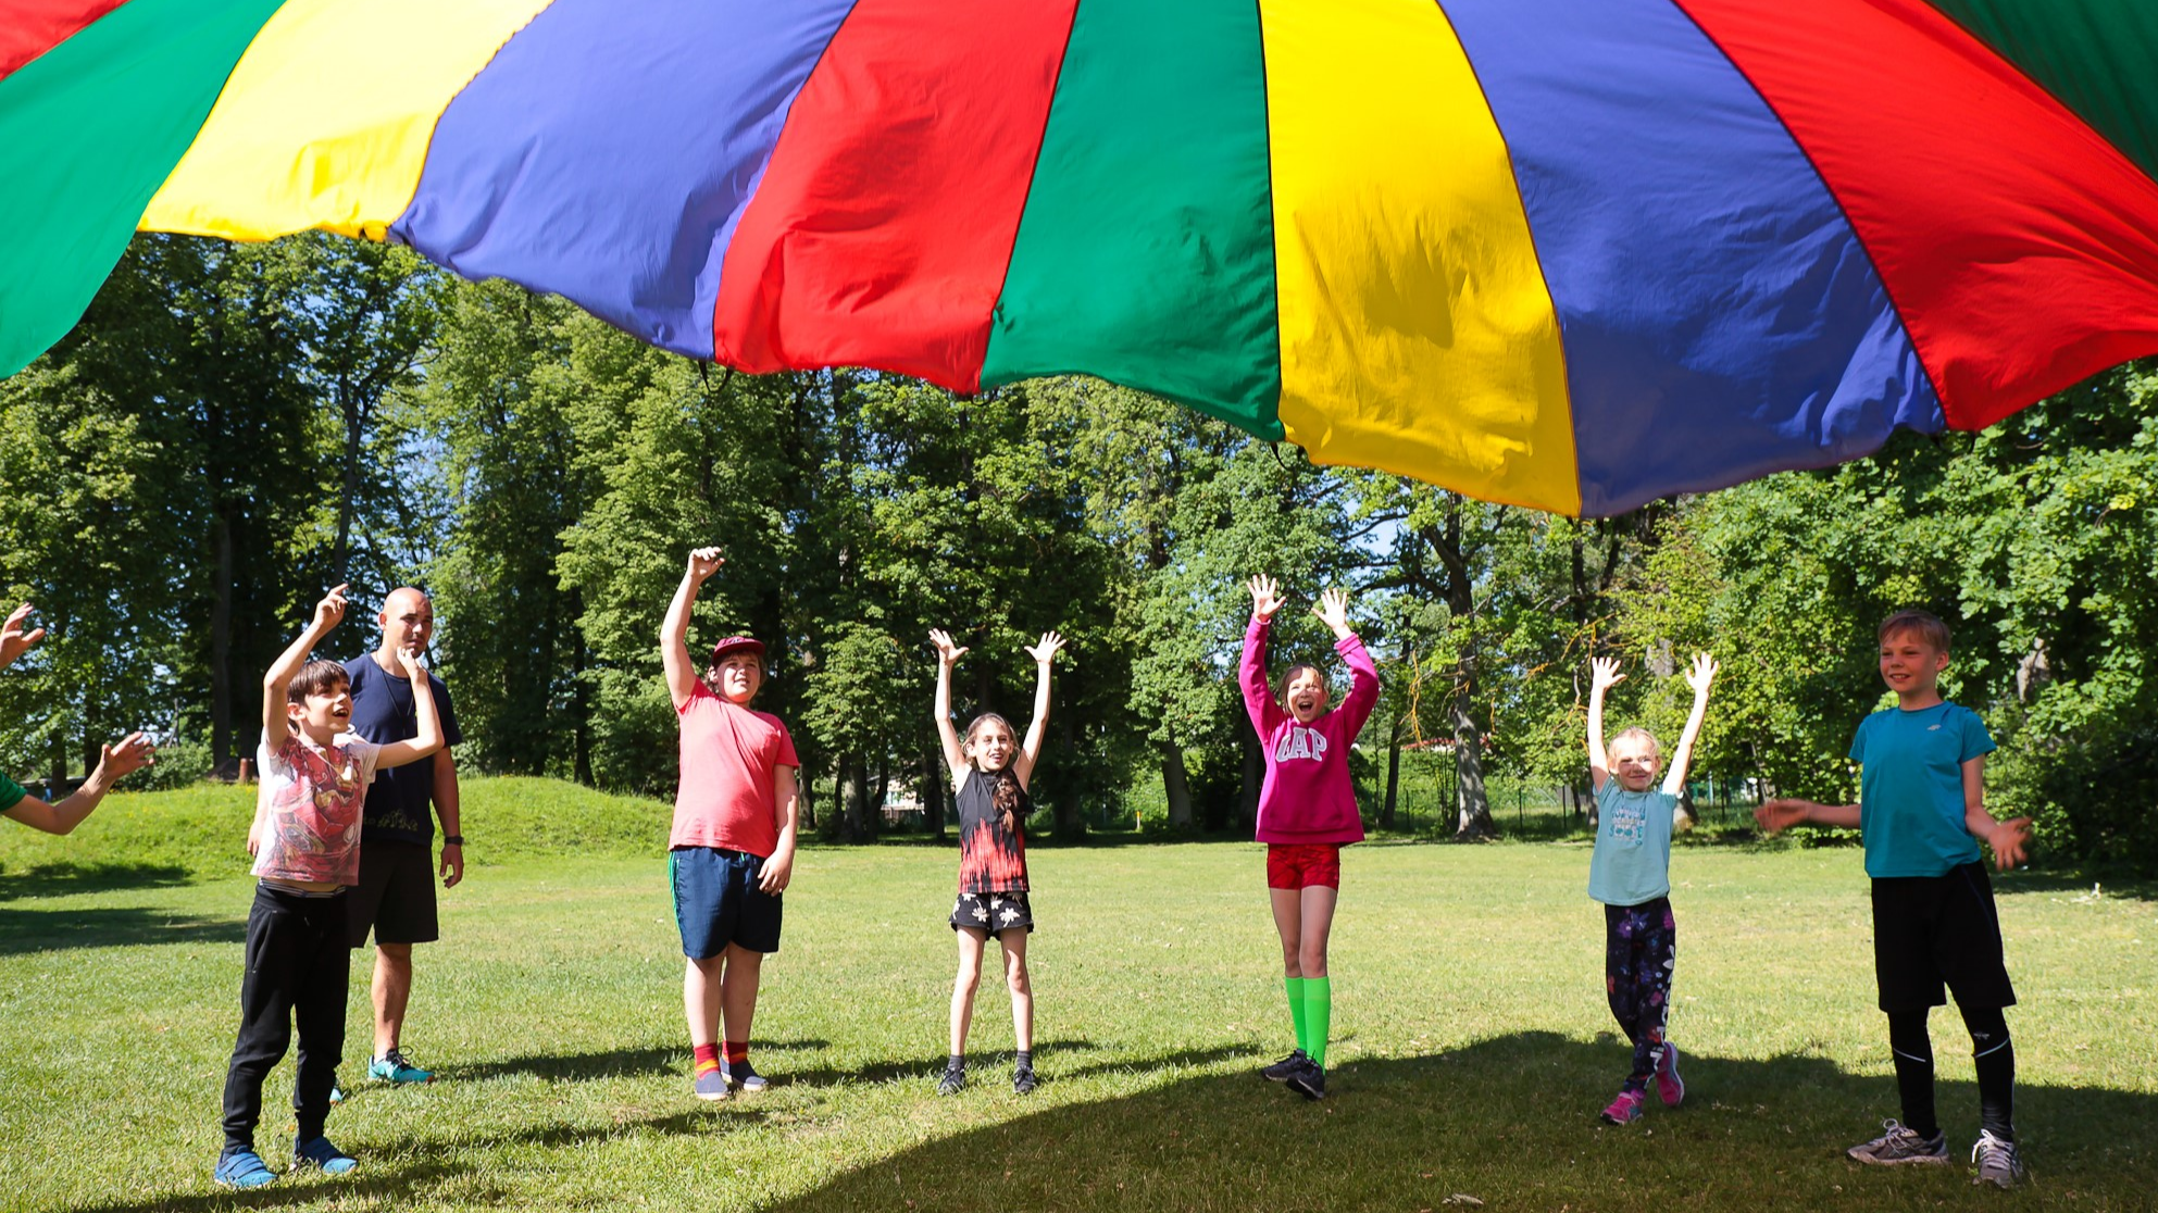
[[1873, 978], [1882, 1010], [2016, 1006], [2000, 958], [2000, 915], [1983, 863], [1944, 876], [1873, 878]]

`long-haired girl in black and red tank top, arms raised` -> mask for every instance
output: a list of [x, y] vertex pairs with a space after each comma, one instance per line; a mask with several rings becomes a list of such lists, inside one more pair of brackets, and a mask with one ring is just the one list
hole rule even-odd
[[973, 1023], [973, 993], [982, 982], [982, 954], [995, 935], [1003, 948], [1003, 980], [1012, 991], [1012, 1030], [1019, 1036], [1019, 1064], [1012, 1090], [1034, 1090], [1034, 986], [1027, 980], [1027, 932], [1034, 930], [1034, 909], [1027, 904], [1027, 777], [1042, 751], [1042, 725], [1049, 721], [1049, 665], [1064, 639], [1042, 632], [1027, 650], [1036, 665], [1034, 723], [1025, 740], [1012, 736], [1012, 725], [995, 712], [984, 712], [967, 725], [960, 740], [952, 727], [952, 667], [965, 648], [932, 630], [937, 645], [937, 736], [943, 738], [945, 764], [952, 768], [952, 792], [958, 807], [958, 902], [952, 907], [952, 935], [958, 939], [958, 976], [952, 982], [952, 1055], [937, 1081], [941, 1094], [958, 1094], [967, 1086], [967, 1027]]

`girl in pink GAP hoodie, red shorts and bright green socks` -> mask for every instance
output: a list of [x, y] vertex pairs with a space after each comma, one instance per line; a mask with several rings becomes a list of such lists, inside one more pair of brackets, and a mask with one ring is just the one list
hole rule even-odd
[[1364, 840], [1349, 781], [1349, 745], [1364, 732], [1379, 701], [1379, 669], [1364, 641], [1349, 630], [1349, 594], [1327, 589], [1319, 615], [1334, 628], [1334, 652], [1349, 663], [1351, 686], [1329, 710], [1327, 680], [1314, 665], [1293, 665], [1282, 691], [1267, 686], [1267, 630], [1282, 596], [1271, 576], [1252, 578], [1252, 626], [1243, 632], [1239, 682], [1243, 708], [1267, 755], [1267, 786], [1258, 794], [1258, 840], [1267, 844], [1267, 894], [1273, 926], [1282, 932], [1288, 973], [1288, 1017], [1297, 1049], [1265, 1068], [1303, 1099], [1327, 1094], [1327, 1027], [1334, 989], [1327, 984], [1327, 932], [1342, 883], [1342, 846]]

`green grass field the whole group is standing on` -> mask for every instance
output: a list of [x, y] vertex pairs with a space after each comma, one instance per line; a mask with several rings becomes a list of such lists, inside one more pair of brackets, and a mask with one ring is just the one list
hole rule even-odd
[[[2154, 1209], [2158, 904], [2000, 881], [2031, 1183], [1867, 1170], [1895, 1116], [1852, 848], [1683, 846], [1672, 1040], [1688, 1103], [1595, 1122], [1623, 1077], [1601, 915], [1571, 844], [1368, 844], [1334, 932], [1334, 1099], [1254, 1077], [1286, 1051], [1260, 848], [1038, 848], [1042, 1088], [1010, 1092], [986, 984], [973, 1088], [937, 1099], [956, 850], [809, 848], [766, 967], [773, 1090], [688, 1094], [667, 807], [473, 781], [475, 866], [421, 950], [427, 1088], [358, 1086], [343, 1178], [209, 1183], [248, 907], [233, 790], [114, 796], [73, 837], [0, 827], [4, 1209]], [[367, 1045], [354, 965], [347, 1079]], [[1934, 1017], [1951, 1148], [1968, 1038]], [[291, 1062], [261, 1148], [291, 1148]], [[1651, 1101], [1653, 1103], [1653, 1101]], [[1959, 1155], [1962, 1157], [1962, 1155]]]

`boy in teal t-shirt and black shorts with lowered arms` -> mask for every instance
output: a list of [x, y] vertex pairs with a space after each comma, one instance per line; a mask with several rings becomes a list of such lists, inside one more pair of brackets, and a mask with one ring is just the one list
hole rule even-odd
[[1925, 611], [1899, 611], [1880, 626], [1882, 682], [1897, 706], [1858, 723], [1858, 803], [1767, 801], [1757, 809], [1774, 833], [1815, 822], [1858, 829], [1873, 878], [1873, 978], [1888, 1014], [1903, 1120], [1882, 1137], [1849, 1148], [1862, 1163], [1944, 1163], [1947, 1135], [1934, 1116], [1934, 1042], [1927, 1012], [1944, 989], [1970, 1030], [1979, 1071], [1977, 1183], [2011, 1187], [2016, 1155], [2016, 1049], [2003, 1008], [2016, 1004], [2000, 956], [2000, 915], [1985, 876], [1983, 840], [2000, 870], [2024, 859], [2029, 818], [1985, 812], [1985, 723], [1940, 697], [1949, 669], [1949, 628]]

